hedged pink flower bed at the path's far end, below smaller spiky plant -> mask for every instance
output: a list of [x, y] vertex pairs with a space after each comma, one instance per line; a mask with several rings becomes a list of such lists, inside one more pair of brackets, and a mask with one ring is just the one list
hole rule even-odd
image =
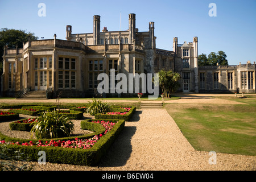
[[136, 110], [136, 107], [134, 106], [119, 106], [119, 108], [121, 109], [125, 109], [125, 112], [108, 112], [108, 113], [100, 113], [100, 114], [96, 114], [95, 118], [96, 119], [125, 119], [125, 121], [129, 121], [129, 119], [131, 118], [131, 116], [133, 115], [133, 113]]

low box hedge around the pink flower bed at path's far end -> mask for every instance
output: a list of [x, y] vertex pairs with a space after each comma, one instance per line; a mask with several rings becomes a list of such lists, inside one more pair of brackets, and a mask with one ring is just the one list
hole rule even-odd
[[[118, 106], [119, 107], [119, 106]], [[120, 106], [120, 107], [131, 107], [130, 111], [124, 115], [112, 115], [106, 113], [95, 114], [94, 117], [96, 119], [124, 119], [125, 121], [129, 121], [129, 119], [133, 116], [133, 113], [136, 111], [135, 106]]]

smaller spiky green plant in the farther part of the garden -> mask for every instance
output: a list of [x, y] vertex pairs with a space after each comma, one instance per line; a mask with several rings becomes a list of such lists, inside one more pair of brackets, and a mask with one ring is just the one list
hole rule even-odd
[[108, 103], [104, 103], [103, 100], [96, 100], [93, 98], [92, 102], [89, 102], [89, 107], [86, 109], [86, 113], [90, 113], [90, 115], [95, 115], [98, 113], [105, 113], [110, 111], [110, 105]]

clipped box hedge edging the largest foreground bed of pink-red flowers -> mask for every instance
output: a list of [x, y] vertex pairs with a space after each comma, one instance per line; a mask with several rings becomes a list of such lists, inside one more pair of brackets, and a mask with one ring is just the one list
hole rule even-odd
[[[92, 123], [92, 121], [97, 121], [98, 119], [88, 119], [86, 121], [81, 122], [81, 126], [83, 127], [91, 127], [95, 130], [100, 131], [102, 128], [97, 125], [101, 125], [100, 123]], [[50, 163], [65, 163], [65, 164], [73, 164], [73, 165], [82, 165], [82, 166], [97, 166], [100, 162], [102, 156], [106, 154], [109, 147], [112, 145], [114, 140], [118, 137], [119, 133], [123, 130], [125, 126], [124, 120], [108, 120], [115, 122], [113, 129], [109, 131], [107, 134], [103, 135], [98, 142], [94, 144], [92, 148], [89, 149], [80, 149], [80, 148], [63, 148], [63, 147], [37, 147], [37, 146], [22, 146], [16, 144], [9, 144], [6, 146], [8, 150], [2, 150], [1, 152], [7, 156], [15, 156], [16, 152], [19, 151], [20, 154], [24, 154], [20, 156], [20, 159], [27, 161], [38, 161], [39, 151], [46, 152], [46, 162]], [[117, 122], [118, 121], [118, 122]], [[105, 130], [105, 129], [104, 129]], [[102, 130], [103, 131], [103, 130]], [[3, 134], [0, 133], [0, 137], [2, 139]], [[80, 137], [79, 137], [80, 138]], [[5, 138], [11, 139], [11, 138]], [[7, 142], [8, 140], [6, 140]], [[11, 140], [9, 140], [11, 141]], [[16, 142], [16, 140], [13, 140]]]

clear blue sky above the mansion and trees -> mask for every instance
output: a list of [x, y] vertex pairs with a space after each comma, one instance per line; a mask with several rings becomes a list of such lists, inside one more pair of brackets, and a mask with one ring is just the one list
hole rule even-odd
[[[46, 16], [38, 16], [39, 3], [46, 4]], [[217, 16], [210, 17], [209, 3], [215, 3]], [[148, 31], [155, 22], [156, 47], [172, 51], [172, 41], [199, 39], [201, 53], [224, 51], [229, 65], [256, 62], [256, 0], [183, 0], [183, 1], [14, 1], [0, 0], [0, 28], [34, 32], [44, 39], [65, 39], [65, 26], [72, 33], [93, 32], [93, 15], [101, 16], [101, 30], [128, 29], [130, 13], [136, 14], [136, 27]]]

